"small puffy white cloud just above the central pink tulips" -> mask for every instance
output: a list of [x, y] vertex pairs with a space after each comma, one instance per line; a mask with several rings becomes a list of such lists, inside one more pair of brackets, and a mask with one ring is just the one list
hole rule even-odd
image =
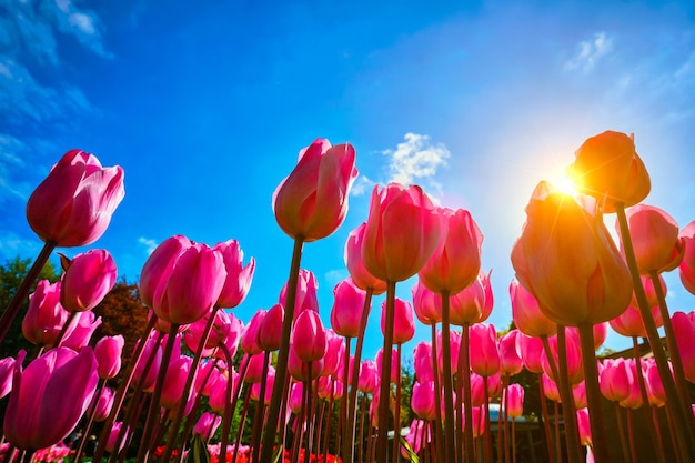
[[384, 150], [383, 154], [390, 159], [389, 182], [419, 183], [437, 192], [441, 190], [435, 175], [451, 157], [444, 143], [433, 142], [430, 135], [409, 132], [395, 150]]

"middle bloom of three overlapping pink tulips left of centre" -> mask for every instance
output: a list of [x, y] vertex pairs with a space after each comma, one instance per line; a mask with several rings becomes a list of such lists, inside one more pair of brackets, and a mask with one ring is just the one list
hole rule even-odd
[[193, 244], [177, 259], [167, 281], [158, 285], [154, 313], [170, 323], [193, 323], [212, 310], [225, 279], [222, 256], [204, 244]]

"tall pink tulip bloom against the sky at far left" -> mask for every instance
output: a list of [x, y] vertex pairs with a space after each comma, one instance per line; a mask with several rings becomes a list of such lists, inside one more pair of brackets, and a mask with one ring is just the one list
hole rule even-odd
[[109, 227], [125, 195], [123, 169], [102, 168], [90, 153], [70, 150], [27, 201], [27, 221], [46, 242], [83, 246]]

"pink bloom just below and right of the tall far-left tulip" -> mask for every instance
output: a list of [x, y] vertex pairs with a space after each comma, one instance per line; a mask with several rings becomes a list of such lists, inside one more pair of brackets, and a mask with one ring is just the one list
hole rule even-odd
[[68, 312], [94, 309], [115, 284], [118, 270], [107, 250], [89, 250], [75, 255], [60, 285], [60, 303]]

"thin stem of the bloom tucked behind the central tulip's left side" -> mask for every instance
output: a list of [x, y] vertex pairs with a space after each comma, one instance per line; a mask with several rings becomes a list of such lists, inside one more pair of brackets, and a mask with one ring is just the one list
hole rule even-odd
[[[354, 440], [355, 440], [355, 425], [356, 425], [356, 411], [357, 411], [357, 389], [360, 385], [360, 365], [362, 362], [362, 346], [364, 345], [364, 332], [366, 331], [366, 323], [370, 316], [370, 309], [372, 308], [372, 295], [374, 294], [373, 288], [366, 289], [366, 296], [364, 298], [364, 306], [362, 308], [362, 316], [360, 319], [360, 332], [357, 333], [357, 345], [355, 345], [355, 355], [352, 361], [352, 382], [350, 384], [350, 396], [348, 401], [348, 419], [345, 420], [345, 432], [343, 436], [343, 462], [352, 463], [354, 460]], [[349, 344], [350, 345], [350, 344]], [[350, 351], [345, 350], [345, 373], [350, 369]], [[348, 375], [345, 374], [345, 378]], [[344, 386], [348, 387], [348, 381]], [[348, 396], [348, 391], [343, 392], [343, 399]], [[360, 441], [362, 436], [360, 436]]]

